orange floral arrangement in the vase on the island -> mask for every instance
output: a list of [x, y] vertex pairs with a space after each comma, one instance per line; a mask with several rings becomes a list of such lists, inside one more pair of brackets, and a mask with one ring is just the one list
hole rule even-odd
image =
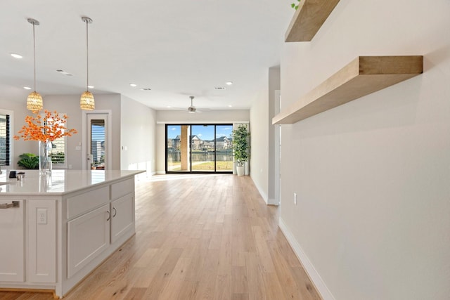
[[75, 129], [67, 129], [65, 124], [68, 116], [60, 117], [56, 110], [52, 113], [45, 110], [45, 115], [35, 115], [25, 117], [22, 129], [18, 131], [19, 136], [14, 136], [15, 140], [23, 138], [24, 141], [55, 141], [63, 136], [72, 136], [77, 133]]

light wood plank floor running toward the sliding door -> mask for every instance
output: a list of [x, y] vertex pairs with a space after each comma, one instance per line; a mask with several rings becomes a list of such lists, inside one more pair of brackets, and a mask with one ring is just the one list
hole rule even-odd
[[136, 235], [65, 299], [321, 299], [277, 224], [248, 176], [153, 176], [136, 184]]

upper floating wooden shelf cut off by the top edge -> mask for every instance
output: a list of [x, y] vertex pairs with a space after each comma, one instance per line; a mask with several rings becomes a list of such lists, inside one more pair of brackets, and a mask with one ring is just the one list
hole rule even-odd
[[339, 0], [300, 0], [285, 41], [311, 41]]

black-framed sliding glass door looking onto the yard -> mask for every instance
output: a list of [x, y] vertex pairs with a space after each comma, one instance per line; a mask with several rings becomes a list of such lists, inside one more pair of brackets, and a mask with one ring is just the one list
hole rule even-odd
[[166, 172], [233, 172], [232, 124], [167, 124]]

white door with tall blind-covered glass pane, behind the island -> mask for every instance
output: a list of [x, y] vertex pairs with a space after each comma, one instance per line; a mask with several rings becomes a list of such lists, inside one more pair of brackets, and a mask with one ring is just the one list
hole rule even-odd
[[87, 114], [86, 169], [108, 169], [108, 114]]

